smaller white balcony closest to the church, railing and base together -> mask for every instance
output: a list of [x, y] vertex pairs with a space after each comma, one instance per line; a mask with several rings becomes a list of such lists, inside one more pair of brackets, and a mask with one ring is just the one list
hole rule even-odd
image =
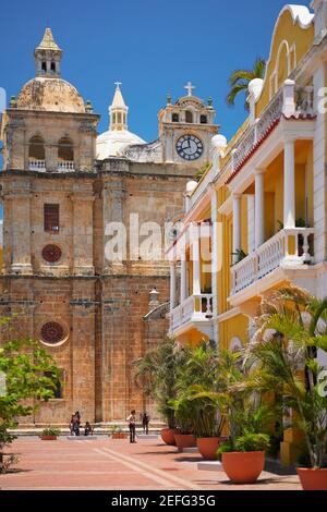
[[173, 336], [197, 329], [208, 338], [213, 331], [213, 295], [201, 294], [187, 297], [170, 312], [170, 329]]

